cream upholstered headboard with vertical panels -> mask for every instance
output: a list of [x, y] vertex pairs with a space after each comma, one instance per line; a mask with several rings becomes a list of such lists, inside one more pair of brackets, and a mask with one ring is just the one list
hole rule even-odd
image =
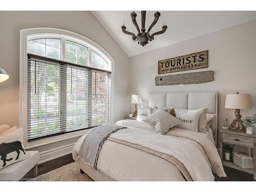
[[148, 106], [160, 108], [172, 107], [186, 110], [208, 108], [208, 114], [214, 115], [211, 120], [211, 128], [214, 140], [218, 138], [218, 93], [212, 92], [174, 92], [174, 93], [151, 93]]

